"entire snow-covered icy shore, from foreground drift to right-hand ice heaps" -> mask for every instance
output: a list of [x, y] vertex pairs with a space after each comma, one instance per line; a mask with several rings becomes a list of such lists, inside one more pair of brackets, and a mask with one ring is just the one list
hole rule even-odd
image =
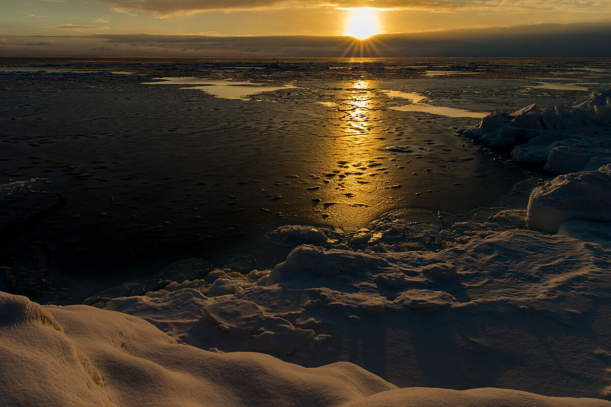
[[[546, 151], [546, 168], [560, 172], [581, 165], [533, 190], [527, 211], [498, 214], [529, 229], [435, 253], [362, 253], [324, 250], [315, 245], [329, 236], [293, 225], [276, 237], [312, 244], [273, 270], [214, 270], [114, 298], [106, 310], [0, 293], [0, 400], [610, 406], [593, 399], [611, 398], [608, 93], [553, 112], [497, 113], [461, 131], [529, 149], [532, 164]], [[592, 138], [595, 149], [584, 143]], [[375, 237], [362, 235], [354, 244]]]

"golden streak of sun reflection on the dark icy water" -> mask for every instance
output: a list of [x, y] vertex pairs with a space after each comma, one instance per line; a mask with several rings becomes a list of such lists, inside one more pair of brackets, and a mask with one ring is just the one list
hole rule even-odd
[[326, 222], [343, 230], [363, 228], [391, 199], [384, 189], [390, 182], [388, 173], [384, 173], [390, 156], [381, 151], [381, 112], [376, 91], [371, 81], [345, 82], [336, 99], [335, 107], [341, 113], [338, 126], [321, 154], [327, 181], [334, 188], [324, 189], [316, 207], [329, 215]]

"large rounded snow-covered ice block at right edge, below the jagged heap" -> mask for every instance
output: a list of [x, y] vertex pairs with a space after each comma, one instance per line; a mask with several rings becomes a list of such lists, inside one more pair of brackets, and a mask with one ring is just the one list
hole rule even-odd
[[611, 222], [611, 165], [557, 176], [530, 194], [529, 229], [555, 233], [574, 218]]

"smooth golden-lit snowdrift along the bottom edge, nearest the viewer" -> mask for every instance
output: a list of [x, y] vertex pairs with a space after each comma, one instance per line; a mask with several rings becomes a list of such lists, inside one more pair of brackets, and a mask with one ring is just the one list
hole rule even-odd
[[130, 315], [5, 293], [0, 315], [0, 400], [10, 406], [611, 405], [507, 389], [398, 389], [350, 363], [307, 369], [261, 353], [200, 350]]

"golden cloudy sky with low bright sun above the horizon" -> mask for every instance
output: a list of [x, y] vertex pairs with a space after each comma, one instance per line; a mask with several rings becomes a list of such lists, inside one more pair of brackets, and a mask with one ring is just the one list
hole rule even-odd
[[[366, 56], [611, 57], [610, 0], [0, 0], [0, 5], [0, 56], [339, 57], [346, 56], [352, 40], [346, 35], [358, 37], [354, 27], [360, 27], [362, 36], [378, 34], [365, 40], [373, 46], [361, 47]], [[355, 20], [359, 15], [364, 20]]]

